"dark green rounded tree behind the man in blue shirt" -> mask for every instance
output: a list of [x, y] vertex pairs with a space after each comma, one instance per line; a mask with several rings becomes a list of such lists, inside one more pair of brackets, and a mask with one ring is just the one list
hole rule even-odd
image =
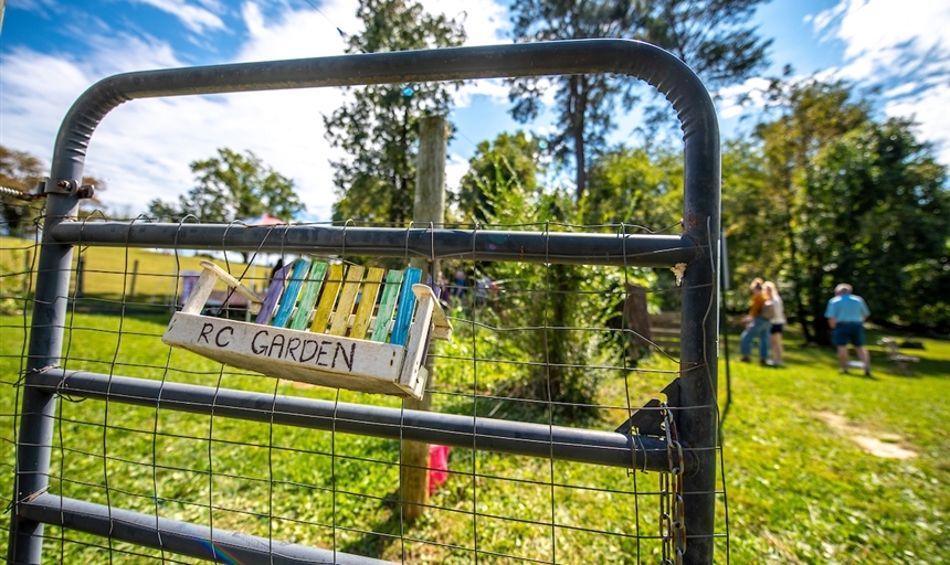
[[[800, 241], [805, 256], [816, 259], [808, 265], [803, 286], [819, 327], [828, 290], [841, 281], [861, 289], [879, 321], [915, 322], [918, 309], [927, 315], [927, 306], [939, 302], [939, 295], [915, 297], [920, 288], [911, 287], [911, 274], [941, 259], [946, 264], [947, 170], [915, 138], [912, 127], [899, 118], [867, 121], [816, 156], [809, 185], [811, 222], [802, 226]], [[908, 303], [911, 297], [916, 303]], [[943, 305], [942, 319], [939, 310], [929, 312], [932, 322], [950, 322]]]

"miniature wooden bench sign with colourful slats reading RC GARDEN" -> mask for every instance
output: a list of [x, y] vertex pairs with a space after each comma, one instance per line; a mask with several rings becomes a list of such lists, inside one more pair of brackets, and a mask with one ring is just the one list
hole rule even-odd
[[[264, 298], [211, 262], [162, 335], [183, 348], [267, 376], [421, 398], [432, 338], [452, 326], [422, 271], [366, 269], [302, 257], [278, 269]], [[205, 316], [218, 281], [249, 300], [255, 321]]]

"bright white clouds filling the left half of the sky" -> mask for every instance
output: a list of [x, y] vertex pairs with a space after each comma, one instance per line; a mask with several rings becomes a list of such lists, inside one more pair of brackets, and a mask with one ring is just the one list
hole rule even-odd
[[[214, 13], [222, 13], [223, 6], [218, 0], [134, 1], [166, 10], [192, 30], [217, 29], [220, 19]], [[507, 25], [504, 8], [493, 0], [425, 3], [450, 17], [464, 15], [467, 44], [509, 41], [498, 31]], [[245, 0], [240, 13], [247, 34], [236, 54], [221, 63], [341, 55], [346, 45], [337, 26], [348, 33], [358, 33], [362, 26], [349, 0], [320, 2], [319, 11], [299, 2]], [[96, 81], [117, 73], [186, 65], [187, 55], [160, 39], [109, 32], [89, 33], [83, 41], [89, 47], [87, 53], [19, 47], [0, 55], [0, 142], [49, 162], [60, 122]], [[460, 90], [458, 102], [468, 104], [473, 95], [504, 104], [507, 88], [500, 81], [479, 81]], [[175, 200], [187, 192], [193, 183], [190, 162], [213, 156], [220, 147], [250, 149], [295, 181], [307, 204], [307, 217], [327, 220], [335, 200], [329, 160], [342, 156], [324, 139], [323, 115], [342, 100], [337, 88], [131, 100], [110, 111], [97, 127], [85, 171], [107, 182], [102, 198], [114, 210], [138, 213], [151, 199]], [[463, 157], [452, 157], [447, 174], [452, 184], [457, 184], [465, 167]]]

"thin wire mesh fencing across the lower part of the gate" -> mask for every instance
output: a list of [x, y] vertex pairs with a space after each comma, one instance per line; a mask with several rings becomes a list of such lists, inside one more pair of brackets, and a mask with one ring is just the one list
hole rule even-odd
[[[141, 223], [103, 225], [130, 233]], [[62, 358], [30, 375], [27, 342], [42, 322], [30, 315], [36, 269], [25, 267], [39, 247], [4, 238], [2, 250], [2, 299], [13, 305], [2, 315], [0, 358], [0, 480], [10, 507], [22, 396], [36, 387], [60, 399], [49, 470], [36, 470], [49, 486], [33, 493], [42, 504], [27, 511], [48, 524], [45, 561], [102, 562], [107, 554], [110, 563], [246, 563], [251, 547], [264, 563], [314, 555], [339, 563], [674, 563], [677, 552], [697, 546], [683, 529], [688, 463], [674, 449], [675, 398], [661, 393], [683, 371], [679, 352], [631, 328], [625, 312], [632, 286], [645, 288], [653, 309], [677, 308], [682, 290], [672, 274], [635, 267], [633, 254], [629, 265], [622, 258], [612, 266], [487, 262], [474, 250], [430, 262], [426, 275], [453, 335], [429, 350], [431, 407], [420, 416], [398, 397], [262, 375], [161, 342], [202, 259], [263, 292], [275, 263], [300, 253], [93, 245], [83, 243], [84, 227]], [[472, 233], [507, 231], [537, 234], [551, 259], [559, 249], [548, 234], [623, 236], [629, 226]], [[402, 257], [373, 257], [345, 246], [320, 257], [400, 268], [418, 258], [409, 248]], [[246, 305], [219, 287], [202, 315], [250, 319]], [[652, 398], [659, 402], [647, 404]], [[645, 419], [615, 431], [637, 413]], [[401, 469], [414, 465], [409, 440], [429, 446], [428, 500], [404, 492]], [[714, 554], [726, 555], [725, 493], [716, 499], [718, 519], [706, 536]], [[421, 516], [408, 518], [420, 504]], [[9, 514], [3, 524], [10, 529]]]

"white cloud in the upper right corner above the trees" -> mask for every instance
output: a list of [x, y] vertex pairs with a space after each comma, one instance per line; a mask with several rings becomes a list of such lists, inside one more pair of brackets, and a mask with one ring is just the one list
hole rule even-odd
[[950, 4], [932, 0], [841, 0], [812, 19], [845, 45], [838, 75], [883, 88], [888, 116], [915, 117], [922, 139], [950, 164]]

